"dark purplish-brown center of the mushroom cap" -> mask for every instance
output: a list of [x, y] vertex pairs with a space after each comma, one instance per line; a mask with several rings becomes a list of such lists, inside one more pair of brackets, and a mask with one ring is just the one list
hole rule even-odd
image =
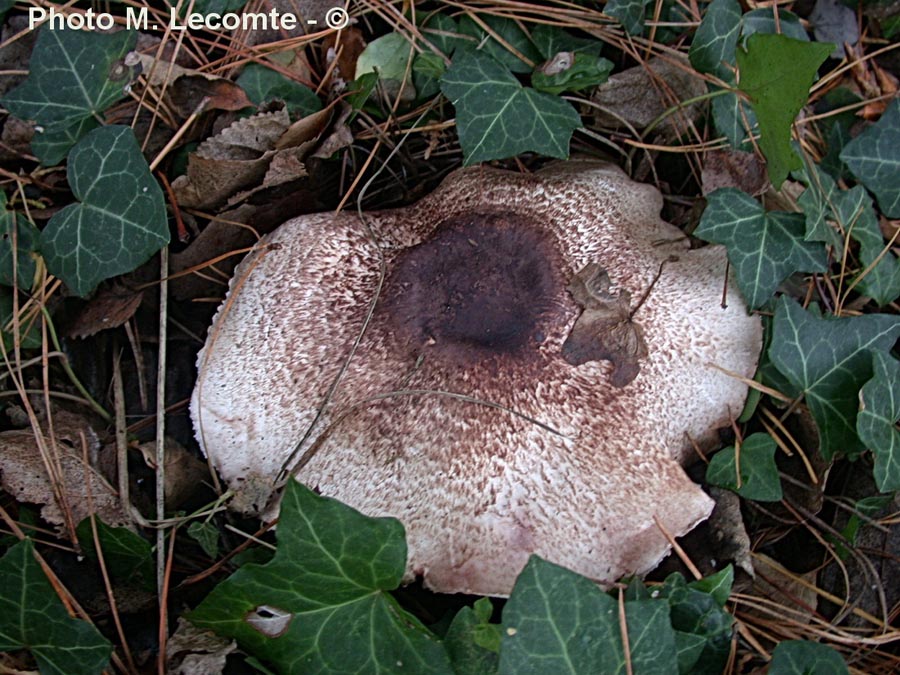
[[565, 294], [556, 241], [536, 221], [470, 213], [397, 256], [382, 307], [410, 347], [463, 365], [527, 354], [562, 316]]

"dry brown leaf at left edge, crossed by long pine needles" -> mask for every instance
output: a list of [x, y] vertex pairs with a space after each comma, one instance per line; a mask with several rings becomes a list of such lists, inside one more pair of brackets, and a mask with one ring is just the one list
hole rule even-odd
[[[122, 509], [117, 492], [96, 469], [82, 461], [82, 434], [88, 443], [89, 457], [99, 449], [97, 434], [87, 420], [74, 413], [56, 411], [53, 429], [59, 450], [62, 490], [74, 522], [95, 513], [107, 525], [130, 526], [131, 519]], [[52, 447], [49, 438], [47, 445]], [[0, 474], [4, 490], [18, 501], [43, 504], [41, 516], [63, 532], [63, 512], [56, 502], [31, 430], [0, 433]]]

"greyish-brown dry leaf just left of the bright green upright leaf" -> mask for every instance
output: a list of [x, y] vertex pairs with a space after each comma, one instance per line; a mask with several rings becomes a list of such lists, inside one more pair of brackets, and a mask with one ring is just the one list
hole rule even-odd
[[[595, 115], [595, 124], [620, 128], [624, 120], [636, 129], [643, 129], [679, 101], [705, 94], [706, 84], [691, 71], [687, 60], [677, 65], [673, 58], [650, 59], [644, 65], [613, 75], [598, 87], [591, 96], [602, 108]], [[693, 103], [667, 117], [656, 130], [669, 138], [678, 136], [686, 130], [684, 115], [694, 121], [702, 110], [700, 103]]]

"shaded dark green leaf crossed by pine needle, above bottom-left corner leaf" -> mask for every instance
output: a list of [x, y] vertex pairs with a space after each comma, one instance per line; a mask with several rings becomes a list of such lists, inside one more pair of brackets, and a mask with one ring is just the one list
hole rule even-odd
[[[127, 527], [110, 527], [99, 518], [97, 539], [103, 552], [103, 562], [110, 576], [122, 582], [142, 584], [152, 590], [156, 587], [153, 565], [153, 547], [143, 537]], [[91, 519], [85, 518], [75, 528], [81, 550], [91, 560], [97, 560]]]

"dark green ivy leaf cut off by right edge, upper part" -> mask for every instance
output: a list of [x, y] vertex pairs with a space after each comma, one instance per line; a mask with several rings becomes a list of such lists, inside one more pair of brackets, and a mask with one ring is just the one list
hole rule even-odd
[[876, 124], [850, 141], [841, 159], [875, 194], [888, 218], [900, 218], [900, 101], [894, 101]]

